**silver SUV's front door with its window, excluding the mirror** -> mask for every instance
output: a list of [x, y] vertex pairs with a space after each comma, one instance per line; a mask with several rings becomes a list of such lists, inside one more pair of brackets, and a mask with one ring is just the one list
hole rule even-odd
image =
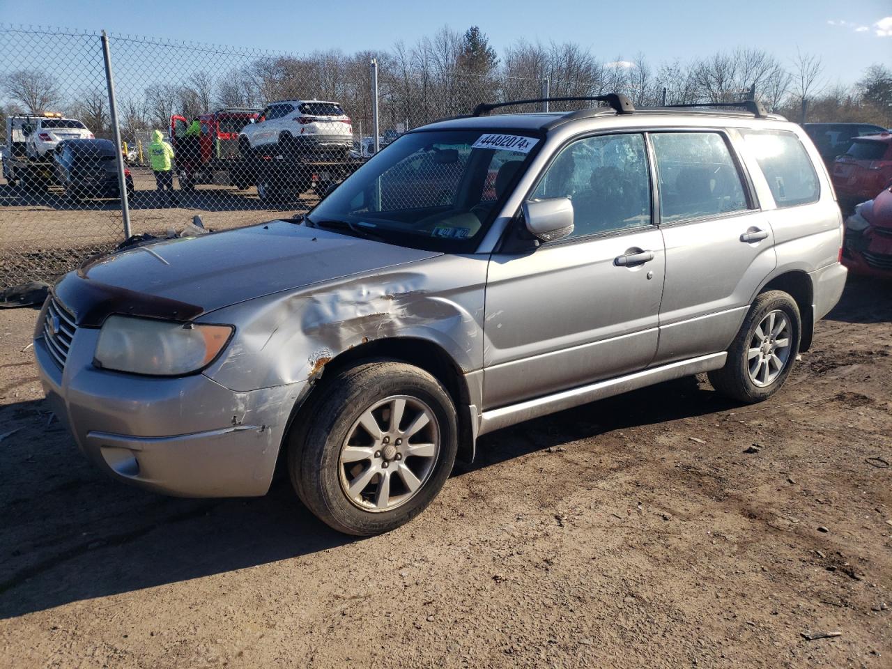
[[644, 137], [567, 145], [533, 191], [549, 197], [573, 202], [573, 235], [490, 262], [483, 409], [631, 373], [657, 351], [665, 261]]

